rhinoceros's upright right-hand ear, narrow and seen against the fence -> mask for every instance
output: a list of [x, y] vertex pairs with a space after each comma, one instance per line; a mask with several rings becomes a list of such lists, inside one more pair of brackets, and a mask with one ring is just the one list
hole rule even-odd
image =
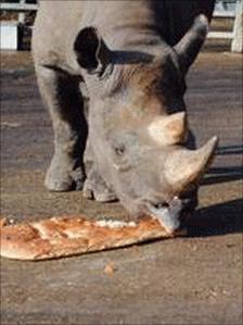
[[174, 47], [179, 57], [179, 64], [182, 73], [187, 73], [195, 60], [208, 32], [208, 18], [199, 15], [192, 27], [186, 33], [181, 40]]

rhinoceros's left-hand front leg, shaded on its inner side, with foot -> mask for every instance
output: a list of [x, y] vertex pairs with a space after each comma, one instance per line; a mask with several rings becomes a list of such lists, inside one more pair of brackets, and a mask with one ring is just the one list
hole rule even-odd
[[53, 191], [81, 189], [87, 122], [80, 79], [59, 68], [37, 66], [36, 70], [40, 93], [49, 108], [54, 129], [54, 155], [44, 184]]

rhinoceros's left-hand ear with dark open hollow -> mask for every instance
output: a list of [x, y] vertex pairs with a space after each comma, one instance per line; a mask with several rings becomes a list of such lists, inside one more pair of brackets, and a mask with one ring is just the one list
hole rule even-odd
[[74, 50], [80, 66], [93, 74], [102, 74], [111, 59], [111, 51], [94, 27], [86, 27], [79, 32]]

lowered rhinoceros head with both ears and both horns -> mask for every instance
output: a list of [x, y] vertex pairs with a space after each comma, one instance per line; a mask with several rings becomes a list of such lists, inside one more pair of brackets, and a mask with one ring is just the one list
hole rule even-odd
[[195, 208], [197, 182], [217, 145], [214, 137], [191, 150], [187, 139], [184, 75], [206, 30], [200, 16], [174, 48], [163, 42], [148, 51], [112, 51], [93, 27], [75, 42], [90, 92], [92, 160], [132, 215], [157, 217], [169, 233]]

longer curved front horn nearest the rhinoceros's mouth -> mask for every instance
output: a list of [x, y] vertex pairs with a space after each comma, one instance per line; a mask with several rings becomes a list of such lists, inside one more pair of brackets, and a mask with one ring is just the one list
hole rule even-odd
[[165, 163], [165, 176], [175, 190], [183, 190], [203, 175], [212, 162], [218, 138], [213, 137], [197, 150], [179, 148]]

